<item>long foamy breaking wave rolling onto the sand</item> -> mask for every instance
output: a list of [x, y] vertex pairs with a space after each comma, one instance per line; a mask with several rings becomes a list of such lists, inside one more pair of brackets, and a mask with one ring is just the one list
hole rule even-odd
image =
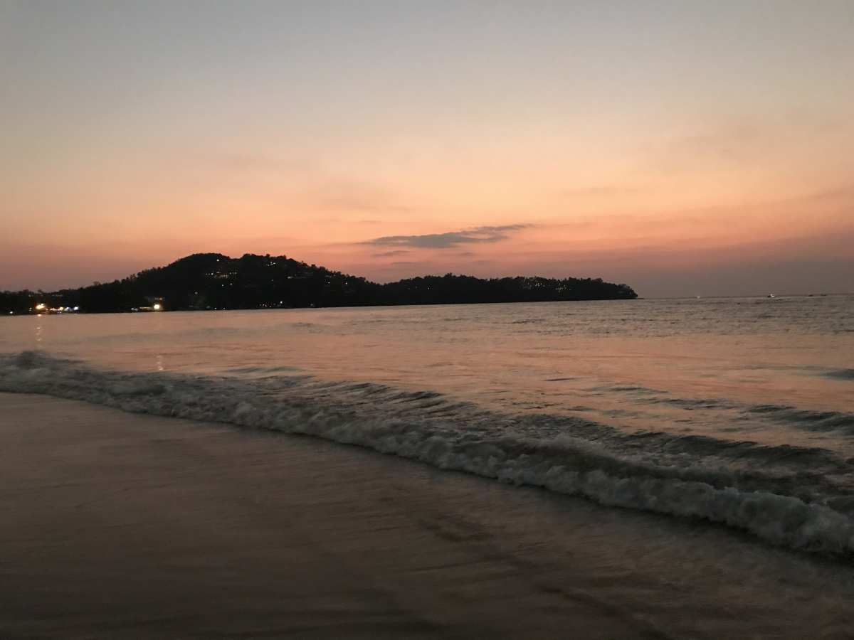
[[[502, 413], [439, 393], [289, 371], [250, 379], [136, 373], [22, 352], [0, 356], [0, 390], [307, 434], [605, 505], [717, 522], [795, 549], [854, 555], [851, 464], [834, 451], [624, 433], [575, 416]], [[846, 414], [756, 410], [819, 428], [849, 426]]]

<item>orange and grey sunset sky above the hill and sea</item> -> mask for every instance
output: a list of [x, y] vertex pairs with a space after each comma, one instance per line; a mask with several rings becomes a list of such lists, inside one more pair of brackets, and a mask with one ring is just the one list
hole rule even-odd
[[0, 289], [190, 253], [854, 291], [854, 0], [0, 0]]

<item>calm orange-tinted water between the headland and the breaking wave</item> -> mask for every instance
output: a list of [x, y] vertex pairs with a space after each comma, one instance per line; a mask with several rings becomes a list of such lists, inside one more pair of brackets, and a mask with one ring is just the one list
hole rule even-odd
[[[35, 342], [119, 369], [298, 369], [624, 430], [846, 450], [852, 311], [854, 297], [827, 296], [37, 316]], [[28, 348], [28, 318], [4, 320], [0, 351]]]

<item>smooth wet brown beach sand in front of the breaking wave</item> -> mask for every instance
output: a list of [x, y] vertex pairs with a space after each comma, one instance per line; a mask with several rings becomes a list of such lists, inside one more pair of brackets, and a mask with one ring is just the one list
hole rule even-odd
[[3, 638], [834, 637], [851, 620], [850, 591], [809, 592], [836, 567], [718, 527], [77, 401], [0, 393], [0, 416]]

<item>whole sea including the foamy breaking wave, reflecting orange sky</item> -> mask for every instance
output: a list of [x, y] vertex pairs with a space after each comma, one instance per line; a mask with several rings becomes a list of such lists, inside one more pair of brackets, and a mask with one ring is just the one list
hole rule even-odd
[[854, 296], [6, 317], [0, 391], [854, 554]]

